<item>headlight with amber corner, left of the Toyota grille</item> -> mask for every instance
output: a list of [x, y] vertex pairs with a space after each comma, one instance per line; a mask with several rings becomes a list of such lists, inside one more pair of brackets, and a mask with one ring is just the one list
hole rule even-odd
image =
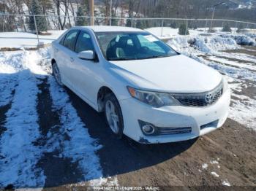
[[144, 90], [137, 90], [133, 87], [127, 88], [129, 94], [132, 95], [133, 98], [136, 98], [139, 101], [154, 107], [180, 105], [178, 101], [169, 93], [148, 92]]

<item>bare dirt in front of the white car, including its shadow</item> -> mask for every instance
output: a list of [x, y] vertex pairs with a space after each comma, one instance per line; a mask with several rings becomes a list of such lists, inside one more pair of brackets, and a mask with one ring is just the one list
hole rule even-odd
[[238, 122], [227, 119], [222, 128], [199, 139], [143, 145], [127, 137], [116, 139], [102, 114], [68, 93], [89, 133], [103, 146], [97, 154], [104, 176], [117, 175], [120, 185], [222, 186], [227, 180], [231, 185], [256, 186], [256, 132]]

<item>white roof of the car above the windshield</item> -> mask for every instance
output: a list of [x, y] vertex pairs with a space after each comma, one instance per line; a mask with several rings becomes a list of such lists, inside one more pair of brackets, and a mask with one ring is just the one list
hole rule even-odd
[[83, 29], [88, 28], [94, 32], [143, 32], [139, 28], [124, 27], [124, 26], [75, 26], [73, 28]]

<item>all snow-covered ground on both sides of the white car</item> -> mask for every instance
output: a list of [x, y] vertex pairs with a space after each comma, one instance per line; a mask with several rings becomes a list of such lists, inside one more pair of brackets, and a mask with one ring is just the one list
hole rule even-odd
[[[45, 36], [40, 38], [45, 38], [45, 43], [48, 43], [56, 39], [61, 32], [53, 32], [53, 35], [48, 36], [49, 39]], [[32, 34], [24, 34], [27, 39], [18, 34], [0, 34], [1, 37], [5, 35], [4, 38], [7, 38], [4, 41], [1, 39], [0, 47], [33, 46], [34, 42], [29, 39]], [[251, 87], [256, 88], [256, 56], [222, 50], [246, 50], [239, 44], [243, 42], [256, 45], [256, 36], [223, 33], [202, 36], [196, 32], [189, 36], [179, 36], [173, 34], [173, 31], [165, 35], [172, 36], [167, 43], [178, 52], [225, 75], [233, 91], [229, 117], [246, 127], [255, 128], [256, 96], [244, 92]], [[13, 36], [18, 39], [13, 39]], [[37, 42], [37, 39], [33, 40]], [[256, 49], [247, 51], [256, 52]], [[6, 130], [0, 138], [0, 187], [8, 184], [15, 187], [43, 187], [45, 171], [37, 164], [45, 153], [53, 150], [58, 151], [55, 157], [71, 157], [72, 163], [78, 164], [83, 174], [81, 182], [87, 181], [91, 185], [118, 185], [116, 177], [102, 178], [102, 168], [96, 154], [101, 146], [89, 135], [86, 124], [70, 104], [66, 91], [56, 85], [48, 73], [49, 58], [50, 47], [37, 51], [0, 52], [0, 106], [10, 104], [4, 122]], [[62, 125], [58, 133], [49, 131], [45, 144], [38, 147], [34, 142], [42, 138], [37, 111], [42, 79], [46, 79], [49, 85], [53, 102], [51, 110], [59, 114]], [[207, 168], [207, 164], [202, 168]], [[212, 175], [217, 176], [214, 172]], [[230, 185], [227, 180], [222, 184]]]

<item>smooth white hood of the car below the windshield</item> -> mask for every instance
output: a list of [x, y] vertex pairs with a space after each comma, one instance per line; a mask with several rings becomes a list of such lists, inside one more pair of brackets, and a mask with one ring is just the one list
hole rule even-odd
[[214, 89], [222, 80], [218, 71], [184, 55], [110, 63], [110, 69], [148, 90], [199, 93]]

